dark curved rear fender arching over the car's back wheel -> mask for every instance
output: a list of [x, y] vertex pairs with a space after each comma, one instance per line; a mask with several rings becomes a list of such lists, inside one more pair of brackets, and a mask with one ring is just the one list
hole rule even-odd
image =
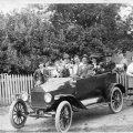
[[112, 93], [112, 90], [117, 86], [122, 93], [125, 93], [125, 88], [120, 84], [120, 83], [110, 83], [106, 88], [105, 88], [105, 101], [106, 102], [110, 102], [111, 101], [111, 93]]

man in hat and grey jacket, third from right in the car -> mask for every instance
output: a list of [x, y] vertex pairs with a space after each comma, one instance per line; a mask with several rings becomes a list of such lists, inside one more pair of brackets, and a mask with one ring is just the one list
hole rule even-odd
[[82, 65], [79, 69], [79, 76], [80, 78], [89, 78], [94, 75], [93, 65], [89, 63], [89, 58], [86, 54], [82, 58]]

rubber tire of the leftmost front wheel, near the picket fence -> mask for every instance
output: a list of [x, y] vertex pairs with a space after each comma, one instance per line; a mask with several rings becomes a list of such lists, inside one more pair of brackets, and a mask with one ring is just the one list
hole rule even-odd
[[12, 115], [12, 114], [13, 114], [13, 108], [14, 108], [14, 105], [16, 105], [18, 102], [21, 103], [21, 104], [23, 104], [23, 106], [24, 106], [24, 112], [28, 112], [28, 109], [27, 109], [25, 103], [24, 103], [22, 100], [16, 100], [16, 101], [12, 102], [12, 104], [11, 104], [11, 106], [10, 106], [9, 115], [10, 115], [10, 122], [11, 122], [12, 126], [16, 127], [16, 129], [21, 129], [22, 126], [24, 126], [24, 123], [25, 123], [25, 121], [27, 121], [27, 117], [24, 117], [24, 121], [23, 121], [22, 124], [18, 125], [18, 124], [14, 123], [14, 121], [13, 121], [13, 115]]

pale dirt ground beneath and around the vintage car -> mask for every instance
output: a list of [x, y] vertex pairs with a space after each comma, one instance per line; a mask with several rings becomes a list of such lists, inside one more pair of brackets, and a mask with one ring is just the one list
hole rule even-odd
[[[16, 130], [10, 124], [9, 106], [0, 108], [0, 132], [57, 132], [54, 119], [28, 117], [25, 125]], [[123, 110], [112, 114], [108, 106], [99, 106], [73, 114], [70, 132], [133, 132], [133, 105], [124, 100]]]

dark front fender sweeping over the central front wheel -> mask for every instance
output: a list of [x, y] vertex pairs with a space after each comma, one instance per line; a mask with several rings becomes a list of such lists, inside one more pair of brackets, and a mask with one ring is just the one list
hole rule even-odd
[[72, 94], [59, 94], [54, 96], [55, 103], [59, 104], [61, 101], [68, 101], [72, 106], [78, 109], [86, 109], [74, 95]]

